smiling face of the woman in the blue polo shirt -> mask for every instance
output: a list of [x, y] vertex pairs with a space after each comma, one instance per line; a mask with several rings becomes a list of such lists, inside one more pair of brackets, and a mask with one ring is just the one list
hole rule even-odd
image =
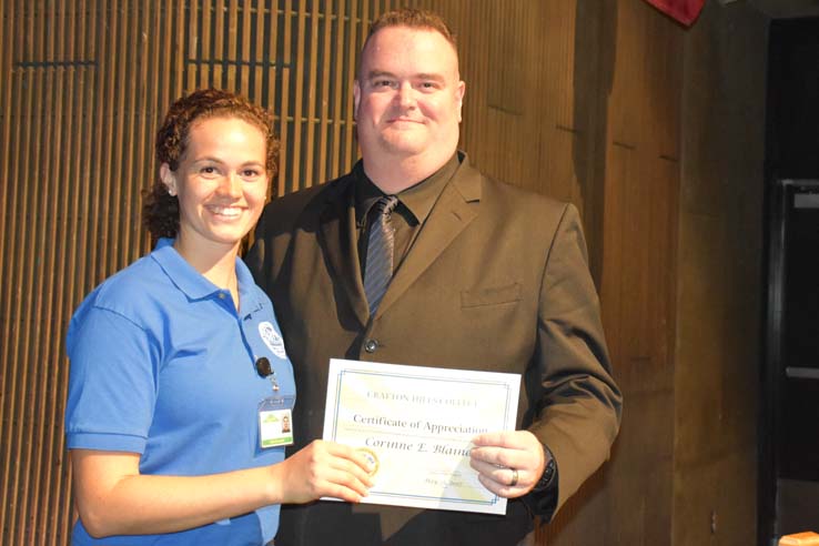
[[266, 191], [266, 141], [237, 118], [193, 123], [176, 171], [161, 168], [162, 182], [179, 198], [178, 243], [188, 250], [231, 250], [255, 225]]

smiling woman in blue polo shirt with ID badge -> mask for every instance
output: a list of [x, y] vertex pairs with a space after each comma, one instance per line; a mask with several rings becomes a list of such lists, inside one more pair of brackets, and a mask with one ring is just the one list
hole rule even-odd
[[154, 251], [98, 286], [69, 326], [73, 544], [266, 544], [279, 504], [358, 502], [372, 485], [346, 446], [314, 442], [284, 459], [293, 371], [237, 257], [276, 172], [272, 119], [196, 91], [171, 107], [156, 158], [144, 215]]

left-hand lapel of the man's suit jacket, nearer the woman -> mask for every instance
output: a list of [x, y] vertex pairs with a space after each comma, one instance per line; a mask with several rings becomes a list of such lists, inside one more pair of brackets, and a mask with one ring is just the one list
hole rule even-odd
[[340, 181], [318, 216], [320, 244], [332, 267], [331, 277], [342, 287], [353, 314], [365, 325], [368, 320], [364, 285], [358, 265], [355, 234], [355, 205], [347, 189], [352, 178]]

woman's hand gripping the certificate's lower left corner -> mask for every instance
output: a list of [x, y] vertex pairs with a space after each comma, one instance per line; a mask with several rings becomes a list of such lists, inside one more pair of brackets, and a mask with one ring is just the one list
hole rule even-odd
[[325, 496], [358, 503], [373, 486], [364, 454], [334, 442], [316, 439], [275, 466], [281, 467], [281, 496], [286, 504]]

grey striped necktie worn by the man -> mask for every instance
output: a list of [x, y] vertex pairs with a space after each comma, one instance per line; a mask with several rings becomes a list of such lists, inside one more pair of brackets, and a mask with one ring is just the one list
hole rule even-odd
[[393, 277], [393, 250], [395, 246], [395, 228], [392, 215], [398, 198], [384, 195], [375, 203], [378, 214], [370, 226], [367, 242], [367, 261], [364, 269], [364, 293], [370, 304], [370, 315], [375, 314], [381, 299], [384, 297], [390, 280]]

